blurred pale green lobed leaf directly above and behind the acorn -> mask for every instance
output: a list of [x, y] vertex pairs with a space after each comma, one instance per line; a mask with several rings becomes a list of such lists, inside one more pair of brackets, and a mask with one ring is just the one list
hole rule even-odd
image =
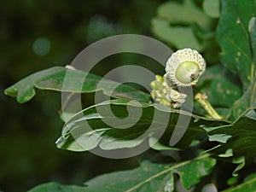
[[201, 32], [202, 28], [208, 34], [207, 28], [211, 21], [191, 0], [184, 0], [183, 3], [166, 2], [160, 5], [157, 17], [152, 20], [152, 31], [177, 49], [189, 47], [201, 51], [203, 46], [195, 32]]

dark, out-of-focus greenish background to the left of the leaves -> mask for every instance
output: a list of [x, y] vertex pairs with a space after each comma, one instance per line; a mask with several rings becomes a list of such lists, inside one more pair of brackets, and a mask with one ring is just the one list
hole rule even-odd
[[[69, 64], [99, 39], [122, 33], [152, 36], [150, 21], [164, 2], [0, 2], [0, 191], [26, 191], [49, 181], [82, 184], [102, 172], [137, 166], [140, 157], [109, 160], [56, 148], [63, 125], [58, 115], [60, 93], [39, 91], [32, 101], [21, 105], [3, 90], [31, 73]], [[146, 59], [125, 58], [129, 62]], [[103, 62], [109, 67], [119, 61], [113, 55]], [[95, 72], [104, 73], [104, 68], [96, 67]]]

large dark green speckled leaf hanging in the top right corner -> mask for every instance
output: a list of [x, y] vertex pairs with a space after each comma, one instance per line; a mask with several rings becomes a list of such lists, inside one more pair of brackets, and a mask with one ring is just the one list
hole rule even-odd
[[244, 91], [255, 80], [255, 52], [251, 51], [248, 31], [249, 20], [255, 15], [255, 9], [255, 1], [222, 0], [218, 22], [217, 37], [222, 49], [221, 61], [241, 79]]

